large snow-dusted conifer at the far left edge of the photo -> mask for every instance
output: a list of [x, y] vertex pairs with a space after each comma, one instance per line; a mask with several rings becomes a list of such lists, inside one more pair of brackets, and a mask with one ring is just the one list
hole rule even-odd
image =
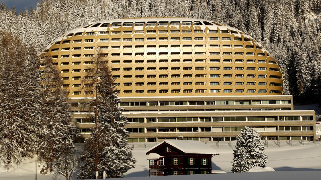
[[0, 32], [0, 37], [0, 162], [9, 169], [22, 157], [32, 157], [30, 131], [34, 127], [31, 103], [25, 94], [29, 89], [25, 72], [27, 50], [9, 32]]

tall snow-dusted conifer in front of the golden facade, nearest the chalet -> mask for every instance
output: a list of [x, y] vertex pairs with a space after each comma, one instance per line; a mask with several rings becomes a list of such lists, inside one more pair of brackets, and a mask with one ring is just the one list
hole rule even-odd
[[88, 95], [85, 106], [91, 107], [91, 118], [95, 127], [84, 143], [79, 179], [122, 177], [123, 173], [135, 166], [132, 149], [127, 147], [129, 133], [124, 129], [128, 124], [117, 106], [114, 78], [102, 50], [96, 50], [93, 64], [88, 65], [82, 79], [83, 90]]

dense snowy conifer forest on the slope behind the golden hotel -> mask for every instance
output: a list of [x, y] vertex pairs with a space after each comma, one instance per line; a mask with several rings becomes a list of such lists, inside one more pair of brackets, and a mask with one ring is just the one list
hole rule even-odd
[[42, 0], [16, 14], [1, 4], [0, 30], [41, 52], [67, 31], [126, 17], [213, 20], [254, 37], [278, 61], [284, 94], [300, 104], [321, 102], [321, 0]]

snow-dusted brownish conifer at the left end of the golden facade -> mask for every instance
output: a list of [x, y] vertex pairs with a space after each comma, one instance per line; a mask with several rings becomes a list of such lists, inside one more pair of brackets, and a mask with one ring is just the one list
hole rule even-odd
[[[55, 62], [46, 54], [41, 57], [43, 73], [41, 79], [41, 119], [39, 129], [39, 160], [47, 163], [52, 171], [52, 162], [61, 151], [73, 151], [76, 128], [71, 122], [68, 93]], [[64, 152], [65, 153], [65, 152]]]

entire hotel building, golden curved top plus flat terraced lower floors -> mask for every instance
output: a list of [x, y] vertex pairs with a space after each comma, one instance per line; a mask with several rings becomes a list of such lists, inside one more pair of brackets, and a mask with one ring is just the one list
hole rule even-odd
[[252, 37], [208, 20], [155, 17], [95, 22], [45, 49], [69, 88], [82, 137], [92, 121], [81, 108], [81, 79], [97, 48], [131, 122], [129, 141], [234, 140], [244, 126], [266, 140], [315, 136], [313, 111], [293, 111], [278, 64]]

